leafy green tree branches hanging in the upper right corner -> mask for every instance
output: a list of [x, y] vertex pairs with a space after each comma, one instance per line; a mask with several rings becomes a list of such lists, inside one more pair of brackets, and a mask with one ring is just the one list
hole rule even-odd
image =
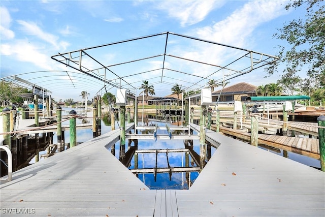
[[307, 78], [303, 82], [318, 88], [324, 87], [325, 5], [322, 3], [323, 0], [295, 0], [285, 6], [286, 10], [305, 7], [306, 15], [305, 18], [285, 23], [278, 29], [279, 33], [274, 35], [288, 45], [279, 46], [280, 61], [266, 68], [269, 74], [276, 72], [282, 63], [286, 66], [284, 77], [296, 77], [296, 73], [306, 70]]

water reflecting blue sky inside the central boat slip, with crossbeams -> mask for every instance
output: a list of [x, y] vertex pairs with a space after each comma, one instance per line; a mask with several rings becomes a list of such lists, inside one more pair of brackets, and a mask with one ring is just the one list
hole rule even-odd
[[[172, 122], [173, 123], [173, 122]], [[172, 126], [168, 121], [168, 125]], [[166, 126], [165, 122], [148, 120], [144, 126]], [[154, 130], [139, 130], [138, 134], [153, 134]], [[133, 134], [134, 131], [131, 131]], [[184, 134], [173, 131], [173, 135]], [[167, 134], [167, 130], [157, 129], [157, 135]], [[126, 141], [127, 147], [115, 144], [113, 152], [126, 167], [143, 181], [150, 189], [189, 189], [199, 175], [199, 140], [150, 140]], [[123, 159], [120, 148], [126, 148]], [[211, 148], [211, 154], [215, 148]]]

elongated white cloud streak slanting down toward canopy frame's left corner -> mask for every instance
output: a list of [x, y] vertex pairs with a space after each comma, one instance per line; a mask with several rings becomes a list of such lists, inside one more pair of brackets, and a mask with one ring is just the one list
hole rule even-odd
[[62, 49], [62, 48], [65, 49], [69, 45], [68, 42], [63, 42], [63, 41], [59, 42], [57, 36], [44, 32], [34, 22], [27, 22], [24, 20], [17, 20], [17, 22], [22, 26], [22, 30], [26, 34], [36, 36], [36, 37], [42, 39], [43, 41], [50, 43], [55, 49]]

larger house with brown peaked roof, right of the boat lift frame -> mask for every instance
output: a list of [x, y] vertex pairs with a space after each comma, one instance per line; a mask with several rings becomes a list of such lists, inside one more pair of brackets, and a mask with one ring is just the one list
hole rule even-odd
[[[241, 82], [234, 84], [229, 87], [224, 87], [219, 102], [222, 101], [246, 101], [247, 97], [255, 97], [257, 86], [251, 85], [249, 83]], [[212, 92], [212, 102], [216, 102], [220, 94], [221, 89]]]

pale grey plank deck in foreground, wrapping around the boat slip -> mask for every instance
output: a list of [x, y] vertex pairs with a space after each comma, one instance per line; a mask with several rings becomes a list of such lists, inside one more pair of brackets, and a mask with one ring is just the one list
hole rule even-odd
[[105, 147], [118, 138], [111, 131], [14, 172], [0, 185], [1, 216], [325, 215], [325, 173], [261, 148], [207, 130], [219, 147], [192, 187], [149, 190]]

